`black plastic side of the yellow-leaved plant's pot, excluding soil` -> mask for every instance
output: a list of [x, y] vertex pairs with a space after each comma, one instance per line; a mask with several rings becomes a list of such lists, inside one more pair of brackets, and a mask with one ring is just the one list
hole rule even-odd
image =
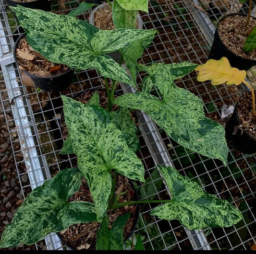
[[226, 140], [231, 148], [242, 153], [252, 154], [256, 152], [256, 139], [253, 139], [244, 128], [239, 128], [242, 124], [238, 117], [239, 103], [240, 100], [235, 104], [234, 112], [226, 124]]

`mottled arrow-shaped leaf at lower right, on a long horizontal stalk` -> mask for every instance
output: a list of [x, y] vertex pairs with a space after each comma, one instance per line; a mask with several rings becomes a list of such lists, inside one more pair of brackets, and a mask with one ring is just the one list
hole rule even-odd
[[178, 219], [190, 230], [230, 227], [243, 219], [239, 209], [227, 200], [207, 194], [196, 182], [172, 167], [159, 166], [172, 199], [154, 208], [151, 215], [160, 219]]

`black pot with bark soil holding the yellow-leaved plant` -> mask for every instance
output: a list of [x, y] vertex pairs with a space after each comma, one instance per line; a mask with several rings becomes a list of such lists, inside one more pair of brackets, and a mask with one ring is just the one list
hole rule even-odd
[[248, 154], [256, 152], [256, 135], [253, 135], [256, 132], [256, 119], [253, 118], [251, 104], [251, 93], [244, 92], [225, 127], [229, 146]]

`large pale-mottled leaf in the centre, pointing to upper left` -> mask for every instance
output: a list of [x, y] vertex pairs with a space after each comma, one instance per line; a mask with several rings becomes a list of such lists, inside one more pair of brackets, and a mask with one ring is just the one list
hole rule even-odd
[[82, 104], [66, 96], [62, 100], [78, 167], [88, 182], [100, 220], [108, 208], [111, 170], [144, 182], [144, 167], [128, 147], [121, 130], [114, 123], [103, 123], [98, 118], [94, 108], [99, 106]]

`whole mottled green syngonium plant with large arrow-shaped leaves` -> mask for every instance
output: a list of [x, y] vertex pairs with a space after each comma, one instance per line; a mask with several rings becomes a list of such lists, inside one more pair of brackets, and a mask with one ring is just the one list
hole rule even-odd
[[[108, 109], [99, 106], [97, 92], [87, 104], [61, 96], [68, 127], [68, 138], [61, 153], [75, 153], [77, 168], [61, 170], [31, 192], [6, 226], [0, 247], [32, 244], [70, 225], [98, 221], [96, 249], [122, 250], [123, 227], [130, 215], [118, 217], [110, 229], [107, 211], [139, 203], [162, 203], [152, 209], [151, 215], [179, 219], [190, 230], [229, 227], [243, 218], [239, 209], [226, 200], [207, 194], [172, 167], [158, 166], [171, 191], [171, 199], [120, 203], [115, 196], [117, 174], [145, 182], [145, 169], [136, 155], [139, 140], [130, 108], [145, 111], [184, 147], [219, 159], [226, 165], [228, 149], [223, 127], [205, 117], [203, 102], [197, 96], [174, 84], [176, 79], [193, 71], [197, 64], [137, 65], [137, 59], [154, 38], [153, 30], [104, 31], [67, 15], [21, 6], [12, 10], [26, 31], [28, 43], [45, 58], [75, 69], [96, 69], [104, 76], [109, 103]], [[131, 75], [106, 55], [116, 50], [122, 52]], [[138, 70], [148, 74], [141, 91], [113, 99], [118, 82], [136, 85]], [[108, 79], [112, 80], [111, 89]], [[161, 99], [151, 94], [153, 87], [161, 93]], [[119, 105], [118, 110], [113, 111], [112, 104]], [[88, 183], [93, 203], [68, 202], [78, 191], [82, 177]]]

